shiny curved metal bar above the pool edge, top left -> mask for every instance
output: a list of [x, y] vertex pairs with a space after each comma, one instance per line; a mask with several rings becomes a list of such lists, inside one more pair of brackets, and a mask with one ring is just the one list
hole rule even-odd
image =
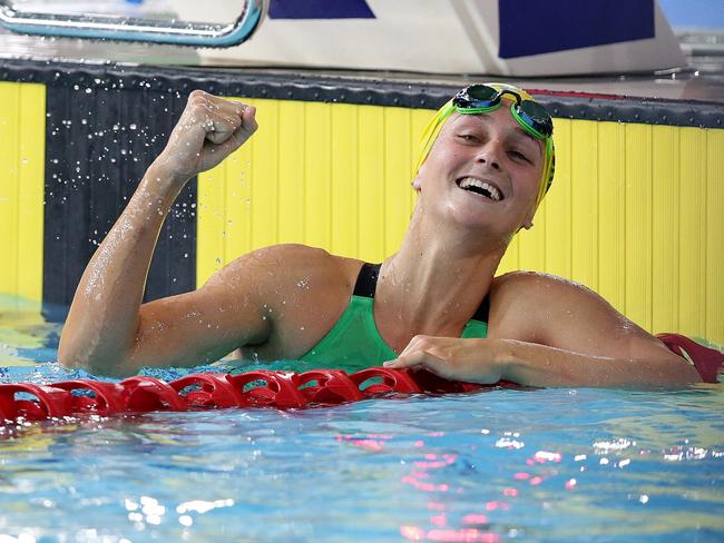
[[260, 27], [268, 0], [244, 0], [242, 13], [229, 24], [149, 21], [137, 18], [23, 12], [0, 0], [0, 27], [17, 33], [94, 40], [138, 41], [193, 47], [232, 47]]

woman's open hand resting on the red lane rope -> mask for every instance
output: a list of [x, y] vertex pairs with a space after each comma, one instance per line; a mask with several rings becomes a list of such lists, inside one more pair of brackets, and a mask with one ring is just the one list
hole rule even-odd
[[414, 336], [394, 361], [384, 367], [424, 367], [450, 381], [492, 384], [502, 378], [502, 363], [489, 339]]

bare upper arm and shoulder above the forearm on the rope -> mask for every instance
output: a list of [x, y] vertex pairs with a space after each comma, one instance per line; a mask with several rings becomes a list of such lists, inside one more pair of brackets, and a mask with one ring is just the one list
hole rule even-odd
[[612, 358], [676, 356], [583, 285], [530, 273], [500, 279], [492, 299], [500, 312], [493, 316], [512, 339]]

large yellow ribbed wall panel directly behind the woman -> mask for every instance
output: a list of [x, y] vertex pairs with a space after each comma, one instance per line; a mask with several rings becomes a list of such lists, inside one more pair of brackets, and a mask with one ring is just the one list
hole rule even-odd
[[[198, 283], [276, 243], [393, 253], [432, 112], [247, 101], [258, 132], [199, 178]], [[574, 279], [650, 332], [724, 343], [724, 130], [569, 119], [555, 130], [556, 180], [500, 272]]]

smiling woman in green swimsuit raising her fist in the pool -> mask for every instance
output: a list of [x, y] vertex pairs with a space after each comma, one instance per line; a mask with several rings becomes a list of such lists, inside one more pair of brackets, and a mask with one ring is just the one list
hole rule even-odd
[[84, 274], [60, 340], [62, 364], [121, 376], [241, 348], [266, 361], [384, 363], [483, 384], [701, 381], [588, 288], [525, 272], [495, 277], [512, 236], [532, 226], [554, 162], [548, 113], [501, 85], [463, 89], [438, 112], [412, 181], [410, 228], [381, 268], [280, 245], [241, 256], [195, 292], [141, 305], [174, 199], [256, 127], [253, 107], [192, 92]]

